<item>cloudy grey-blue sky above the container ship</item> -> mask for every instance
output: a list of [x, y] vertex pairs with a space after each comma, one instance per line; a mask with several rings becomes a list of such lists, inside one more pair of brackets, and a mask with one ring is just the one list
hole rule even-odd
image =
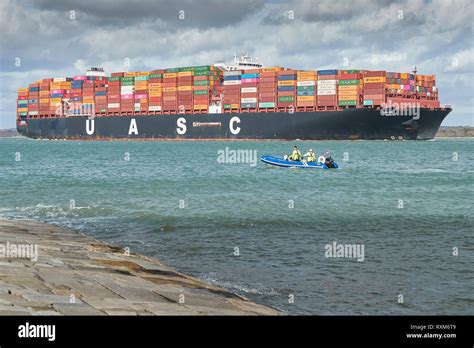
[[474, 125], [472, 0], [0, 0], [0, 129], [45, 77], [213, 64], [437, 75], [444, 125]]

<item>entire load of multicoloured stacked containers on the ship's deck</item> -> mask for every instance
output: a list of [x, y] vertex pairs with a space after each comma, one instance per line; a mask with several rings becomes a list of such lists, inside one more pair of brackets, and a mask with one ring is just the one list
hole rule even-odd
[[[222, 82], [223, 77], [223, 83]], [[298, 71], [280, 67], [226, 71], [195, 66], [118, 72], [110, 78], [43, 79], [18, 89], [19, 119], [92, 113], [207, 112], [222, 95], [227, 112], [287, 107], [372, 107], [416, 102], [439, 107], [433, 75], [385, 71]], [[62, 110], [67, 101], [66, 110]]]

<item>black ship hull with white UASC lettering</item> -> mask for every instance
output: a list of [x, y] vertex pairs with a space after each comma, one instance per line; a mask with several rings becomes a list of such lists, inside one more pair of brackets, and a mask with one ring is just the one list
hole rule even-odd
[[433, 139], [451, 109], [417, 116], [382, 115], [372, 108], [318, 112], [69, 116], [19, 122], [36, 139]]

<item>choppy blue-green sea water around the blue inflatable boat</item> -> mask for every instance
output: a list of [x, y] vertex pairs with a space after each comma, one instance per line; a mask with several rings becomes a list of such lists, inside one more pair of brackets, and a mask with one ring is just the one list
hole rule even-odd
[[[340, 168], [253, 160], [293, 145]], [[474, 313], [472, 138], [9, 138], [0, 155], [0, 217], [77, 229], [286, 313]]]

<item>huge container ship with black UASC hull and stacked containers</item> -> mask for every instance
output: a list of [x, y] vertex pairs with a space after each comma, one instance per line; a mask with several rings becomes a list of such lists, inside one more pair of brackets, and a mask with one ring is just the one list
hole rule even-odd
[[451, 111], [434, 75], [229, 64], [45, 78], [18, 90], [36, 139], [433, 139]]

